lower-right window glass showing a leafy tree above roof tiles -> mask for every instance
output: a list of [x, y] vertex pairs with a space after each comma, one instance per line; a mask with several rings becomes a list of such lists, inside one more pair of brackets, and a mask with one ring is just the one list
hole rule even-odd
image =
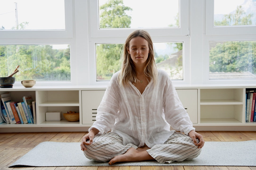
[[209, 79], [256, 79], [256, 41], [212, 41], [209, 60]]

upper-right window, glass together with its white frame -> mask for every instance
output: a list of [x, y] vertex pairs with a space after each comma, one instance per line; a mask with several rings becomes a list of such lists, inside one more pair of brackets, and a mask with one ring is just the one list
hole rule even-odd
[[206, 1], [206, 34], [255, 33], [255, 7], [255, 2], [250, 0]]

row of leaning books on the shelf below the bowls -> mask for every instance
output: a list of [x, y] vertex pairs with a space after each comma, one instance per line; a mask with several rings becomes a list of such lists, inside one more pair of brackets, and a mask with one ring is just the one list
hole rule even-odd
[[13, 101], [10, 93], [0, 95], [0, 123], [36, 123], [36, 102], [24, 96], [22, 102]]

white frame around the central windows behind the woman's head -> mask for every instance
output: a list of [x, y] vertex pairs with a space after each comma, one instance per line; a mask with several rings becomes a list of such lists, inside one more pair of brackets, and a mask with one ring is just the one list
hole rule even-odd
[[[180, 0], [180, 27], [179, 28], [143, 28], [151, 35], [153, 43], [157, 42], [184, 42], [183, 43], [183, 80], [173, 80], [174, 84], [189, 84], [190, 82], [190, 8], [189, 0]], [[107, 85], [109, 81], [97, 81], [96, 76], [96, 49], [95, 44], [125, 43], [127, 36], [134, 28], [127, 29], [99, 29], [98, 1], [89, 0], [88, 17], [89, 28], [89, 83], [90, 85]], [[159, 34], [161, 32], [161, 34]]]

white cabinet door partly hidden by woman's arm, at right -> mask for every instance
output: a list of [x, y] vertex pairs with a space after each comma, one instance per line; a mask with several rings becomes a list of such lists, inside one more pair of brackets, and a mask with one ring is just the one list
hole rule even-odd
[[176, 89], [192, 123], [197, 123], [197, 89]]

